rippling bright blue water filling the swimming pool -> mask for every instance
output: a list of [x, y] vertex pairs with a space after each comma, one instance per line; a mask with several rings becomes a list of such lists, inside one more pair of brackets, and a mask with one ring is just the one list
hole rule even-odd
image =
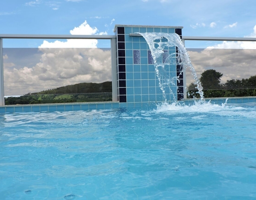
[[2, 114], [0, 199], [256, 199], [255, 130], [255, 103]]

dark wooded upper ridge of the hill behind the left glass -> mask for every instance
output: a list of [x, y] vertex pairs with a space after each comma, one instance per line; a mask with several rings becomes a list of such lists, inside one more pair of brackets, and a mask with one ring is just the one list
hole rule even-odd
[[81, 94], [81, 93], [111, 93], [112, 82], [106, 81], [103, 83], [79, 83], [74, 85], [67, 85], [51, 90], [44, 90], [37, 93], [28, 93], [26, 95], [39, 94]]

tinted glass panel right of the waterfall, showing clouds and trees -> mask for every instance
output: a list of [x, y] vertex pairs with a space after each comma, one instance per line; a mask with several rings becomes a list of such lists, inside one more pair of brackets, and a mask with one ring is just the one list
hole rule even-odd
[[[204, 97], [256, 96], [256, 49], [187, 49], [204, 88]], [[186, 69], [188, 98], [196, 96]]]

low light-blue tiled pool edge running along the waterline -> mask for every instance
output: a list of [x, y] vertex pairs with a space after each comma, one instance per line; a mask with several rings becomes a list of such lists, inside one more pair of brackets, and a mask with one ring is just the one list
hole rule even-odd
[[[240, 98], [209, 98], [205, 99], [212, 104], [242, 104], [256, 102], [256, 97], [240, 97]], [[181, 104], [194, 104], [194, 99], [186, 99], [180, 101]], [[197, 101], [197, 100], [196, 100]], [[140, 104], [119, 103], [118, 101], [109, 102], [90, 102], [90, 103], [64, 103], [64, 104], [29, 104], [29, 105], [6, 105], [0, 106], [0, 113], [20, 113], [20, 112], [56, 112], [56, 111], [79, 111], [79, 110], [103, 110], [115, 109], [121, 107], [143, 107], [154, 109], [159, 102], [141, 102]], [[132, 106], [133, 105], [133, 106]]]

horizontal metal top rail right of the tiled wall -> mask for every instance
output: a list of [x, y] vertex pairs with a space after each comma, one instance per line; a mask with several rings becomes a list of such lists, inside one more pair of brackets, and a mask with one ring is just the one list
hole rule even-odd
[[[130, 33], [131, 37], [142, 37], [139, 33]], [[195, 41], [256, 41], [256, 38], [229, 38], [229, 37], [201, 37], [201, 36], [182, 36], [183, 40]]]

